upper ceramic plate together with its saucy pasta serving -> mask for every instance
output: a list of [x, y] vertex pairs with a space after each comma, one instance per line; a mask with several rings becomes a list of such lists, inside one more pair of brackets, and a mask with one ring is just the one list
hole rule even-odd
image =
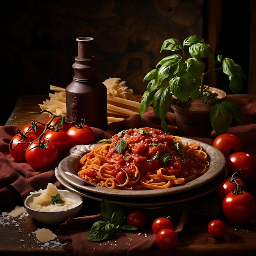
[[219, 177], [225, 166], [224, 155], [209, 144], [145, 127], [75, 146], [59, 163], [58, 175], [88, 193], [146, 198], [198, 188]]

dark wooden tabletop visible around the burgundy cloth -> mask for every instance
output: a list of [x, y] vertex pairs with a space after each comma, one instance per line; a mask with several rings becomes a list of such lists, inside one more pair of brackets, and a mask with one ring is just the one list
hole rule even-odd
[[[227, 98], [238, 105], [245, 106], [248, 103], [256, 103], [253, 95], [228, 95]], [[49, 115], [31, 114], [31, 111], [40, 111], [38, 106], [45, 95], [25, 95], [18, 99], [6, 125], [17, 125], [21, 128], [29, 121], [45, 121]], [[226, 224], [225, 238], [215, 239], [208, 234], [207, 225], [209, 217], [191, 215], [190, 221], [180, 234], [178, 247], [170, 252], [170, 255], [255, 255], [256, 252], [256, 218], [251, 225], [234, 225], [224, 219]], [[40, 244], [33, 231], [38, 228], [50, 228], [56, 231], [58, 226], [43, 225], [32, 220], [27, 214], [22, 218], [14, 219], [16, 222], [8, 222], [6, 217], [0, 217], [0, 255], [65, 255], [62, 245], [57, 241], [48, 245]], [[7, 223], [8, 222], [8, 223]], [[161, 251], [159, 250], [159, 254]]]

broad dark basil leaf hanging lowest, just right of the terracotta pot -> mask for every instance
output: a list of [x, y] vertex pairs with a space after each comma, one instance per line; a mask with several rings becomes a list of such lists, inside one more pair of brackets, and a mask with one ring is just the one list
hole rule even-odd
[[210, 122], [217, 134], [227, 132], [232, 122], [231, 111], [225, 104], [215, 104], [211, 107]]

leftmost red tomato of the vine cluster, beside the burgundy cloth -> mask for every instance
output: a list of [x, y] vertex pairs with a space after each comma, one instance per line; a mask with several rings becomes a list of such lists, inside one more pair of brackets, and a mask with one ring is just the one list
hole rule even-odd
[[9, 143], [9, 153], [17, 162], [27, 162], [25, 153], [30, 142], [36, 140], [38, 137], [35, 134], [24, 135], [18, 133], [13, 136]]

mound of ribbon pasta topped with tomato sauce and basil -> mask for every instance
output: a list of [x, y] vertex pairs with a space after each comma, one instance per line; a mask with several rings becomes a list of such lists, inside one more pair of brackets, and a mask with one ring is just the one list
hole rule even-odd
[[110, 189], [164, 189], [207, 172], [202, 146], [145, 127], [119, 132], [80, 159], [77, 175]]

